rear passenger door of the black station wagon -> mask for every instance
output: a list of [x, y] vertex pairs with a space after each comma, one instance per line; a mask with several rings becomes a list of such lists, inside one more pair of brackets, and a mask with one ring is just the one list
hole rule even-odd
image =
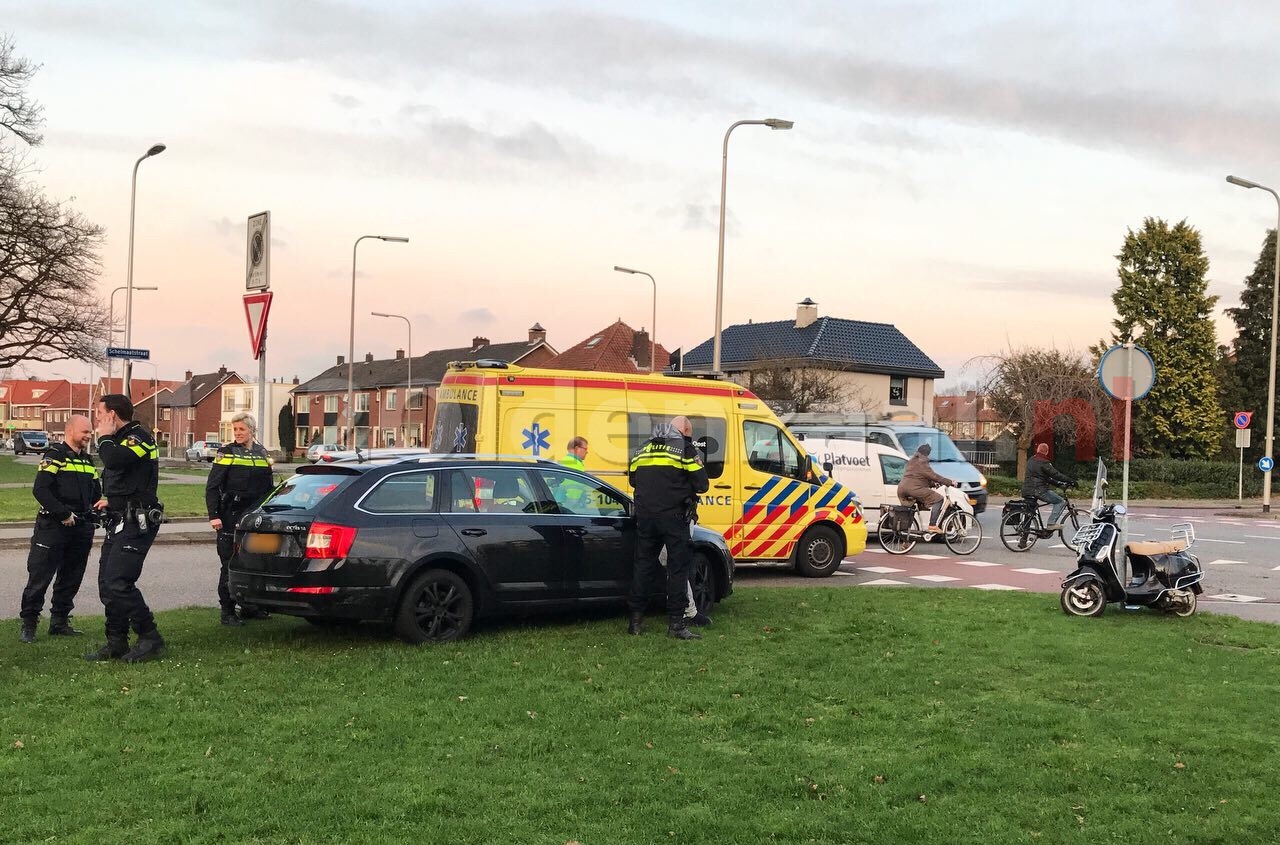
[[564, 594], [561, 525], [529, 470], [476, 466], [448, 470], [445, 524], [504, 604], [559, 600]]

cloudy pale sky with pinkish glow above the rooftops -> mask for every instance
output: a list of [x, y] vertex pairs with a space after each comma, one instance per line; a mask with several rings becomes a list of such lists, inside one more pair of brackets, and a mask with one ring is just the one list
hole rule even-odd
[[[947, 370], [1010, 346], [1084, 350], [1144, 216], [1204, 238], [1238, 303], [1280, 184], [1274, 3], [92, 3], [0, 0], [44, 64], [47, 192], [108, 232], [133, 344], [161, 375], [255, 374], [244, 220], [271, 211], [269, 375], [621, 318], [689, 348], [724, 323], [892, 323]], [[123, 301], [123, 294], [119, 297]], [[1219, 341], [1234, 325], [1219, 319]], [[67, 365], [49, 370], [65, 371]], [[150, 371], [148, 367], [142, 367]], [[87, 371], [86, 371], [87, 375]]]

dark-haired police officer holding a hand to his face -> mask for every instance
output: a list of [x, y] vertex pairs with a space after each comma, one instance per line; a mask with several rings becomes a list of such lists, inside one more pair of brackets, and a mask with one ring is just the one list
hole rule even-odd
[[[155, 617], [138, 592], [142, 563], [160, 531], [164, 506], [160, 451], [151, 431], [133, 419], [133, 402], [123, 393], [108, 393], [97, 402], [97, 452], [102, 458], [106, 539], [97, 563], [97, 590], [106, 609], [106, 645], [86, 661], [150, 661], [164, 649]], [[129, 648], [129, 627], [138, 635]]]

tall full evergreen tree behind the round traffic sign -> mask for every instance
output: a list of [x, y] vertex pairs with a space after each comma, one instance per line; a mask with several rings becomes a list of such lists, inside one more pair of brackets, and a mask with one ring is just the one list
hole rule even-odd
[[1125, 236], [1120, 287], [1111, 301], [1116, 343], [1134, 342], [1156, 364], [1156, 384], [1134, 402], [1134, 443], [1156, 457], [1217, 453], [1226, 416], [1219, 406], [1216, 339], [1208, 259], [1199, 232], [1147, 218]]

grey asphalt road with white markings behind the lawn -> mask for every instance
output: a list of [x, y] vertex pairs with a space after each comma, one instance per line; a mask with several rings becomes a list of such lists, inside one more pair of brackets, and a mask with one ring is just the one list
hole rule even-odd
[[[874, 589], [882, 584], [1019, 589], [1053, 594], [1056, 603], [1062, 575], [1075, 567], [1074, 554], [1057, 540], [1041, 540], [1024, 553], [1010, 552], [996, 535], [998, 520], [998, 507], [980, 516], [984, 539], [968, 557], [956, 557], [934, 543], [922, 543], [911, 554], [892, 556], [873, 540], [867, 552], [845, 561], [840, 574], [829, 579], [803, 579], [781, 570], [744, 567], [739, 570], [737, 583], [744, 589], [788, 585]], [[1212, 508], [1139, 507], [1132, 515], [1130, 534], [1138, 539], [1160, 539], [1169, 536], [1176, 522], [1192, 522], [1196, 527], [1193, 552], [1206, 570], [1202, 611], [1280, 622], [1280, 521], [1224, 516]], [[26, 549], [0, 551], [0, 618], [18, 616], [26, 568]], [[147, 602], [157, 611], [192, 606], [215, 608], [216, 586], [218, 556], [212, 543], [156, 544], [140, 581]], [[96, 547], [84, 574], [77, 615], [101, 615]]]

